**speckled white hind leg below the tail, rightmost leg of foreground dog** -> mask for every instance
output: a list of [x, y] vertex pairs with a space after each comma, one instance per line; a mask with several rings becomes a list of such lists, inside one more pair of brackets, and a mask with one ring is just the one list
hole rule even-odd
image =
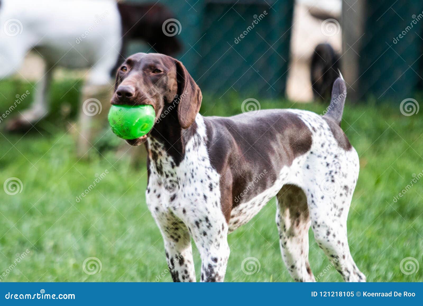
[[310, 177], [305, 190], [317, 244], [345, 281], [365, 281], [352, 259], [347, 238], [346, 221], [358, 177], [357, 153], [354, 151], [355, 157], [353, 153], [347, 154], [346, 159], [339, 157], [339, 163], [332, 163], [324, 172]]

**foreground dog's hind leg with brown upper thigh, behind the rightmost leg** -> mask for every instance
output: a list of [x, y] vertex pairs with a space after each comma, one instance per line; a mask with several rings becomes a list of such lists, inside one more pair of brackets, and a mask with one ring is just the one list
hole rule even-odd
[[283, 261], [295, 281], [314, 281], [308, 262], [310, 215], [305, 193], [297, 186], [285, 185], [276, 198]]

